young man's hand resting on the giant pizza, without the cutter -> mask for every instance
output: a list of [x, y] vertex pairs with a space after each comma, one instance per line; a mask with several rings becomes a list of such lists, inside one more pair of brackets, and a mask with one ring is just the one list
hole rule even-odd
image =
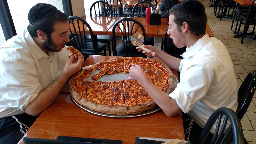
[[135, 66], [132, 65], [130, 67], [128, 80], [138, 81], [138, 79], [140, 79], [143, 76], [146, 76], [146, 75], [143, 72], [143, 69], [139, 65], [135, 64]]

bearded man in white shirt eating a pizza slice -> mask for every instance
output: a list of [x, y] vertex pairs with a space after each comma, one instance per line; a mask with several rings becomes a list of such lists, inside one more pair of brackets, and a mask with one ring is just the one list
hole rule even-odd
[[66, 14], [38, 3], [28, 20], [27, 30], [0, 46], [0, 143], [17, 143], [84, 63], [81, 52], [75, 59], [65, 46]]

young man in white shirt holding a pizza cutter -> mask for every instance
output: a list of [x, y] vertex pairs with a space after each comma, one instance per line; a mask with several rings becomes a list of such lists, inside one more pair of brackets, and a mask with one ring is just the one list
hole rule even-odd
[[[186, 0], [175, 5], [169, 13], [168, 34], [178, 48], [187, 47], [182, 54], [184, 59], [170, 56], [153, 46], [145, 47], [179, 71], [180, 82], [168, 95], [150, 82], [138, 65], [130, 67], [129, 80], [138, 80], [167, 116], [187, 113], [194, 123], [190, 129], [190, 137], [186, 139], [193, 143], [196, 142], [193, 139], [198, 139], [200, 131], [216, 109], [228, 107], [236, 111], [238, 85], [226, 47], [221, 41], [209, 38], [205, 33], [207, 16], [204, 6], [199, 1]], [[151, 52], [142, 52], [152, 56]], [[184, 128], [187, 127], [184, 125]], [[215, 127], [211, 133], [214, 130]], [[209, 140], [212, 135], [209, 135]]]

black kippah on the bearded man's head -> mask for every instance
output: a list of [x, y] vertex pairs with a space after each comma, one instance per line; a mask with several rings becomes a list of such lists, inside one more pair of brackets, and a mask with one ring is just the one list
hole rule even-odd
[[34, 5], [28, 12], [29, 24], [34, 24], [50, 13], [58, 10], [55, 6], [45, 3], [38, 3]]

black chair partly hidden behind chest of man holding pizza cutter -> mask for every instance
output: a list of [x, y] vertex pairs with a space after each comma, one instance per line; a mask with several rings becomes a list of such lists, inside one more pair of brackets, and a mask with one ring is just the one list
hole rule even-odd
[[164, 47], [163, 47], [163, 51], [172, 55], [172, 56], [175, 56], [175, 57], [179, 57], [180, 55], [182, 55], [185, 51], [186, 51], [186, 47], [183, 47], [183, 48], [177, 48], [173, 42], [169, 42], [171, 43], [170, 46], [167, 46], [167, 38], [168, 38], [168, 34], [167, 34], [167, 31], [168, 31], [169, 27], [166, 29], [165, 31], [165, 35], [164, 35]]

